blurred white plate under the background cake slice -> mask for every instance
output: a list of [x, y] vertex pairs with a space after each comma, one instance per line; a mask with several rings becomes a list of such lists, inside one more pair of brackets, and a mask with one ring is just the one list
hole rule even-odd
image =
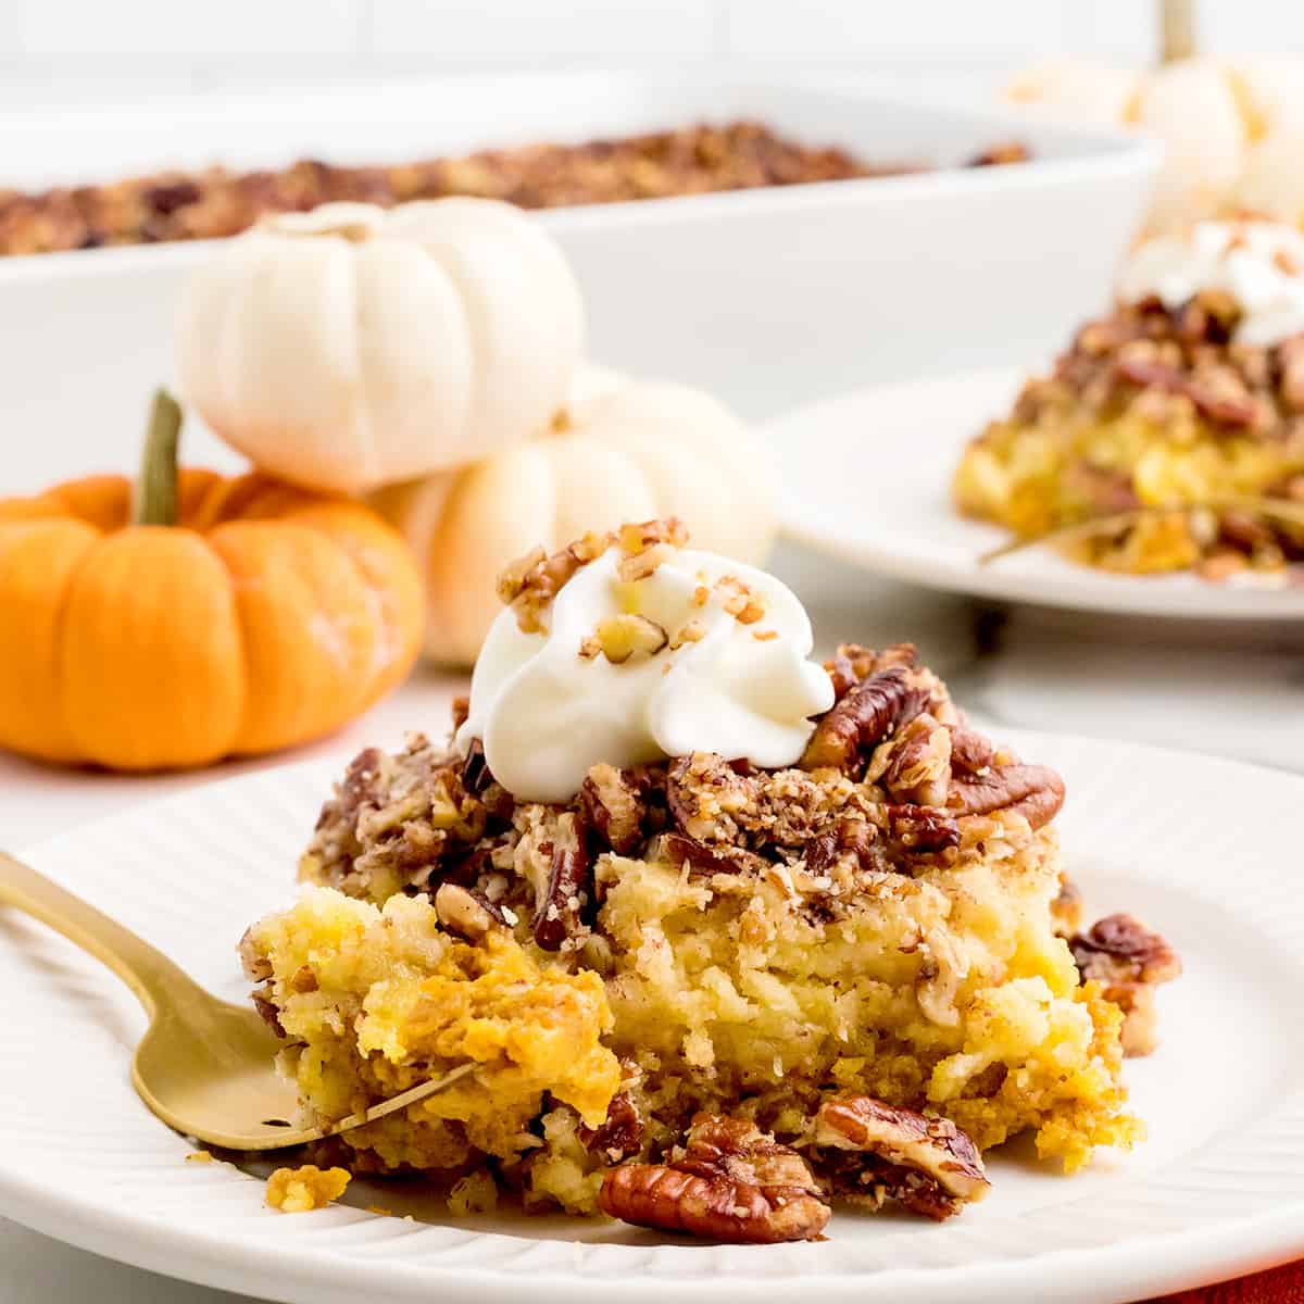
[[1111, 575], [1045, 548], [979, 565], [1009, 536], [958, 516], [951, 477], [965, 442], [1008, 411], [1025, 374], [1001, 368], [880, 385], [771, 421], [785, 528], [880, 575], [978, 597], [1205, 621], [1304, 619], [1304, 587]]

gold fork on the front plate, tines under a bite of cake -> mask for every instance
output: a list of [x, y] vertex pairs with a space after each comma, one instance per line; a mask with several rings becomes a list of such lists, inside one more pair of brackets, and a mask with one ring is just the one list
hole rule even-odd
[[0, 904], [61, 932], [117, 974], [150, 1026], [132, 1058], [132, 1085], [171, 1128], [227, 1150], [276, 1150], [361, 1127], [451, 1086], [473, 1064], [326, 1128], [299, 1128], [293, 1084], [274, 1059], [276, 1034], [253, 1011], [218, 1000], [167, 956], [72, 892], [0, 852]]

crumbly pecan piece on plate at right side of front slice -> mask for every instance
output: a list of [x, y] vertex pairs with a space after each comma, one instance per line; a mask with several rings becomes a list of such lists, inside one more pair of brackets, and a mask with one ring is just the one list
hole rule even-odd
[[1097, 919], [1068, 945], [1082, 982], [1123, 1011], [1123, 1054], [1149, 1055], [1159, 1043], [1154, 988], [1181, 973], [1178, 953], [1131, 914]]

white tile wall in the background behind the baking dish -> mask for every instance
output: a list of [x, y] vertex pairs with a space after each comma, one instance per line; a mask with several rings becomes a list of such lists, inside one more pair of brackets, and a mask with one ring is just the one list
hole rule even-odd
[[[1141, 61], [1157, 0], [0, 0], [0, 112], [447, 70], [857, 68], [971, 94], [1031, 59]], [[1202, 0], [1210, 50], [1304, 51], [1304, 4]]]

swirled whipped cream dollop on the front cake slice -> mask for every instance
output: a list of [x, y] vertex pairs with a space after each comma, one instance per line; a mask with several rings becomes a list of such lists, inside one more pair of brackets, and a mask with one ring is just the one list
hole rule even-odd
[[[562, 585], [546, 627], [501, 612], [458, 730], [523, 801], [565, 802], [589, 767], [715, 751], [777, 768], [801, 758], [833, 685], [810, 661], [810, 619], [772, 575], [713, 553], [664, 548], [622, 578], [613, 544]], [[615, 657], [615, 660], [613, 660]]]

